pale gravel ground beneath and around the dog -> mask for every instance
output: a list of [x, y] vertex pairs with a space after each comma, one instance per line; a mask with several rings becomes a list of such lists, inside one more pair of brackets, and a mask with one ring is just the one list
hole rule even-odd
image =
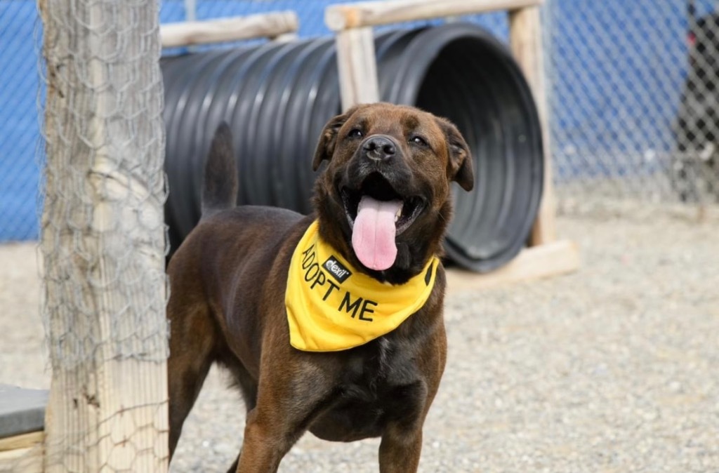
[[[580, 272], [449, 295], [422, 472], [719, 472], [719, 216], [572, 209], [559, 234]], [[47, 387], [35, 248], [0, 261], [0, 382]], [[211, 372], [173, 472], [234, 459], [244, 409], [226, 384]], [[308, 435], [280, 471], [376, 472], [377, 446]]]

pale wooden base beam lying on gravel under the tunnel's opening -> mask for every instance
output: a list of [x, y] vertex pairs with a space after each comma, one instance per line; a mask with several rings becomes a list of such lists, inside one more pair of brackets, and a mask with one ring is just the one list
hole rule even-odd
[[447, 290], [475, 290], [536, 280], [574, 272], [580, 267], [577, 244], [559, 240], [522, 250], [514, 260], [498, 270], [477, 274], [459, 268], [447, 270]]

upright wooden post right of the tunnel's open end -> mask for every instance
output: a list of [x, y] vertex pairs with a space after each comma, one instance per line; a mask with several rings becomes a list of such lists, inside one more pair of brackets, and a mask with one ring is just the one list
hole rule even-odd
[[510, 47], [514, 58], [523, 70], [529, 83], [539, 113], [544, 147], [544, 186], [539, 213], [532, 228], [532, 246], [554, 242], [557, 239], [554, 216], [554, 185], [551, 180], [551, 148], [549, 146], [549, 110], [544, 78], [544, 50], [542, 47], [541, 18], [539, 6], [516, 9], [509, 15]]

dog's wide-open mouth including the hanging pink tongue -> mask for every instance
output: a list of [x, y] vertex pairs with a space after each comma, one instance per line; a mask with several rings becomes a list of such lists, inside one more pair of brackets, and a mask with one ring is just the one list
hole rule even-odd
[[395, 237], [408, 229], [424, 208], [418, 196], [401, 196], [380, 173], [372, 173], [359, 189], [340, 190], [352, 226], [352, 248], [363, 265], [386, 270], [395, 262]]

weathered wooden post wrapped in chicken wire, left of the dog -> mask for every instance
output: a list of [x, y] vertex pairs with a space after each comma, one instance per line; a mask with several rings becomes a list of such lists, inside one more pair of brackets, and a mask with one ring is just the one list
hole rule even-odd
[[46, 472], [168, 463], [156, 0], [40, 0], [47, 102], [41, 246], [52, 385]]

